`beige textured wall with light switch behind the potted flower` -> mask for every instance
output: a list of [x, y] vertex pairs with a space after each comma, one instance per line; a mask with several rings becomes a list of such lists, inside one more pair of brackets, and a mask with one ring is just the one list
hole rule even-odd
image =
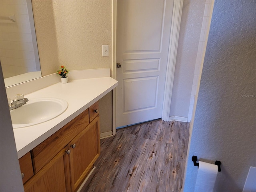
[[[111, 0], [32, 0], [42, 76], [69, 70], [111, 68]], [[102, 57], [102, 45], [110, 56]], [[85, 88], [86, 89], [86, 88]], [[101, 100], [101, 132], [112, 130], [112, 97]]]

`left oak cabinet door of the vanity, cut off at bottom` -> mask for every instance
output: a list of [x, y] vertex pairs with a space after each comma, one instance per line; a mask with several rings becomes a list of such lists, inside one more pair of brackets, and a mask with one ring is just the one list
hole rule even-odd
[[24, 184], [24, 191], [71, 191], [68, 147], [62, 149], [48, 164]]

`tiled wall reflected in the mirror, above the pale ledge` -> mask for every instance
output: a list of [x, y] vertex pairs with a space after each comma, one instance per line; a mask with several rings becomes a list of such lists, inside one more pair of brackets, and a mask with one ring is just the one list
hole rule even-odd
[[4, 78], [36, 70], [36, 58], [26, 0], [1, 0], [0, 15], [15, 15], [16, 22], [1, 19], [1, 62]]

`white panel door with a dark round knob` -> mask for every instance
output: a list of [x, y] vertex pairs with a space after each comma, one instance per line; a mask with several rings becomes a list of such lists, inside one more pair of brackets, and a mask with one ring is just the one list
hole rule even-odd
[[116, 126], [162, 117], [173, 0], [117, 0]]

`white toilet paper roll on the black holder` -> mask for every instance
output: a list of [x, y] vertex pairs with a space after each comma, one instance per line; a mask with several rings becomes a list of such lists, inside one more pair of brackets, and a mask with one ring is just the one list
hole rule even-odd
[[212, 192], [218, 174], [218, 166], [199, 161], [195, 192]]

